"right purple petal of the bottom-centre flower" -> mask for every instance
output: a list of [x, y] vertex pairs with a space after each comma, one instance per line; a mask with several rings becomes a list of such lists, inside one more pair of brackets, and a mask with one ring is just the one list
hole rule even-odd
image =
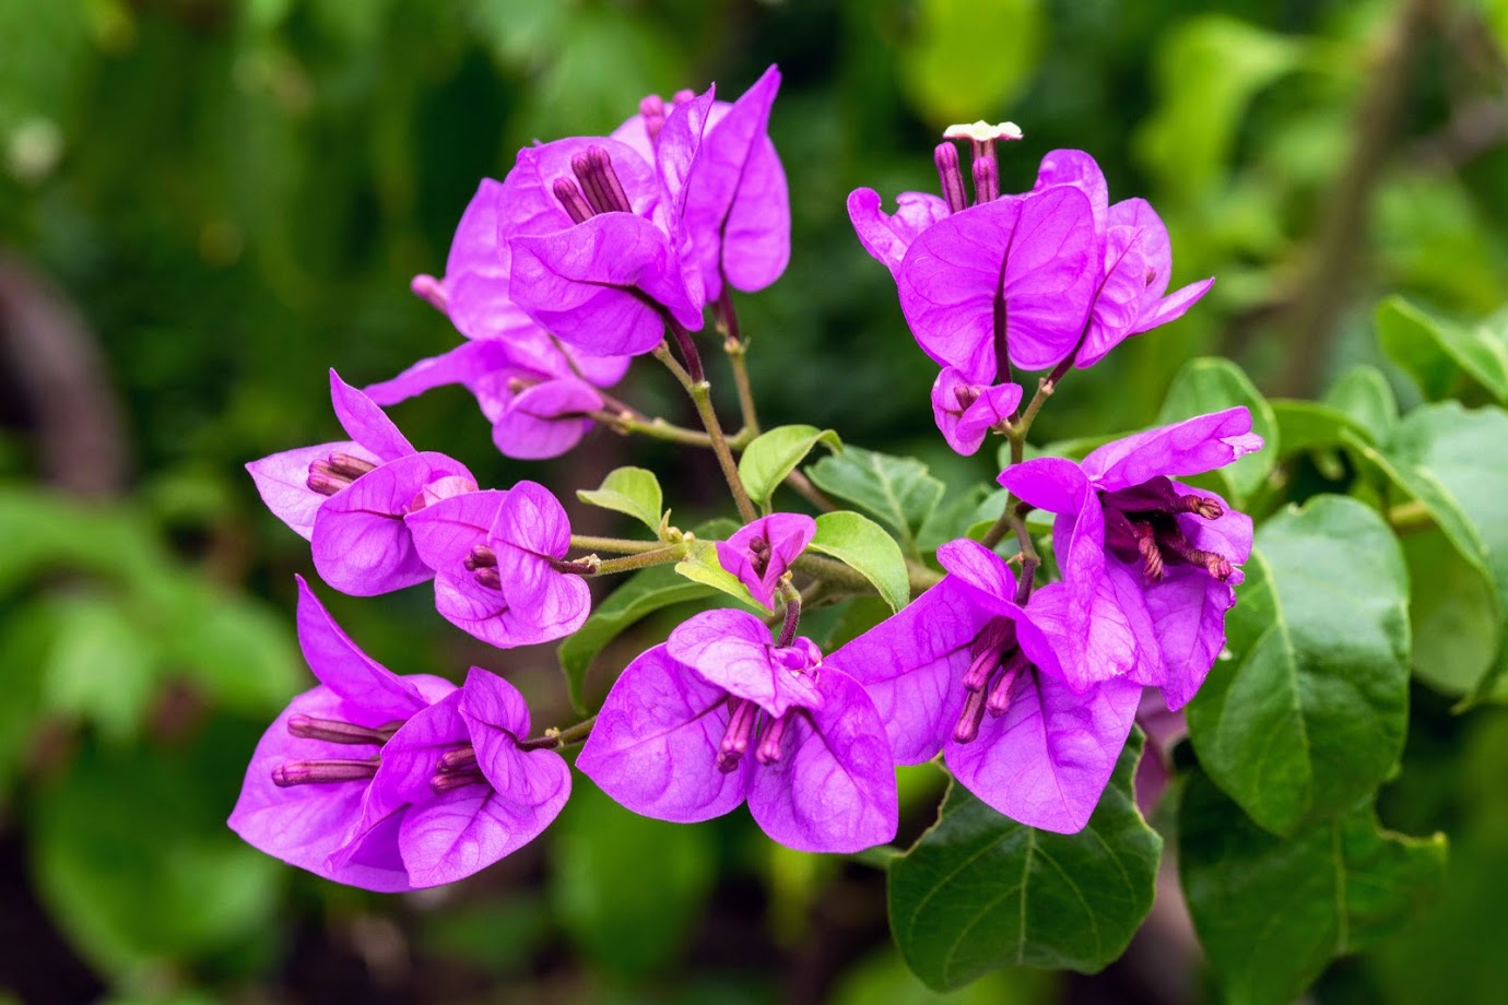
[[896, 770], [873, 702], [846, 674], [823, 667], [823, 704], [792, 711], [781, 756], [752, 768], [749, 812], [798, 851], [861, 851], [896, 836]]

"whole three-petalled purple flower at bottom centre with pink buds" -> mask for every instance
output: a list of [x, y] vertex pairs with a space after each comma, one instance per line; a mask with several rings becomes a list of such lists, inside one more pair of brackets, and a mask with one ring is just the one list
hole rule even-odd
[[896, 835], [885, 725], [808, 639], [775, 646], [759, 618], [709, 610], [627, 666], [576, 758], [645, 817], [694, 823], [748, 800], [775, 841], [858, 851]]

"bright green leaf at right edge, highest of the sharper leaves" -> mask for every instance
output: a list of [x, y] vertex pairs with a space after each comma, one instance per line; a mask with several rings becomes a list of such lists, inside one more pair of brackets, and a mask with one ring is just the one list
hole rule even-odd
[[1377, 341], [1431, 401], [1449, 396], [1464, 371], [1508, 404], [1508, 315], [1466, 327], [1395, 295], [1377, 306]]

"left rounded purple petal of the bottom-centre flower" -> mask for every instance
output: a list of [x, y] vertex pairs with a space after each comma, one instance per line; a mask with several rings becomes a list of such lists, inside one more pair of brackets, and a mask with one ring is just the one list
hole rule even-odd
[[644, 817], [710, 820], [743, 802], [754, 761], [743, 756], [733, 771], [718, 770], [727, 728], [727, 692], [657, 645], [618, 677], [576, 767]]

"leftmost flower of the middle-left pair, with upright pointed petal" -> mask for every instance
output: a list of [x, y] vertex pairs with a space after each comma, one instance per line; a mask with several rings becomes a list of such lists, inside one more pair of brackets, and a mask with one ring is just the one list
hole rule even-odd
[[477, 490], [443, 454], [418, 452], [366, 395], [330, 371], [330, 401], [347, 441], [320, 443], [246, 466], [273, 514], [312, 545], [314, 568], [335, 589], [372, 597], [434, 576], [413, 548], [404, 515]]

